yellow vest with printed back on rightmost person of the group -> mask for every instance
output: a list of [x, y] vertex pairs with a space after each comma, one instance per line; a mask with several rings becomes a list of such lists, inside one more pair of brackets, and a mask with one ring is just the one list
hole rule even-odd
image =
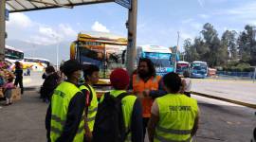
[[168, 94], [155, 100], [159, 108], [159, 121], [155, 141], [189, 142], [198, 112], [197, 102], [184, 95]]

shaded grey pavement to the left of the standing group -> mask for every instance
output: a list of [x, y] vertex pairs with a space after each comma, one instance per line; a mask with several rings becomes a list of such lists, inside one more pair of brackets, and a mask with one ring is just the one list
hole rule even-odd
[[46, 142], [45, 116], [47, 104], [33, 91], [10, 106], [0, 101], [1, 142]]

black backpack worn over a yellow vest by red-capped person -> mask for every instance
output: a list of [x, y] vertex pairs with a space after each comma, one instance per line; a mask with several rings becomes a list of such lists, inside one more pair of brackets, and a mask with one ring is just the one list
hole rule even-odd
[[93, 130], [93, 142], [123, 142], [128, 132], [125, 132], [121, 99], [128, 96], [122, 93], [115, 98], [105, 93], [103, 101], [98, 106]]

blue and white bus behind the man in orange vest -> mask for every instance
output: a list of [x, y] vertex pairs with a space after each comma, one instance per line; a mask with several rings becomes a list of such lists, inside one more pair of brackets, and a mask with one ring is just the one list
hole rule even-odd
[[155, 64], [155, 71], [157, 75], [163, 76], [166, 73], [174, 72], [172, 51], [168, 47], [159, 45], [137, 46], [137, 62], [139, 58], [151, 59]]

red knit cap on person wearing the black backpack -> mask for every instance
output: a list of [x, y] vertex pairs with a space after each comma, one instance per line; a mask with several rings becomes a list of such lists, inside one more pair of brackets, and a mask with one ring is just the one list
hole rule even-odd
[[110, 82], [115, 89], [124, 90], [129, 85], [129, 75], [126, 70], [117, 68], [112, 71]]

